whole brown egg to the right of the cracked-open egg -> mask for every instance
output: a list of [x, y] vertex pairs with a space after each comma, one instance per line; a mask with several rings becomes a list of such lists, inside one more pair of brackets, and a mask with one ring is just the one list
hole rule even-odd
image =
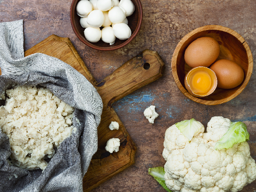
[[232, 89], [237, 87], [244, 80], [243, 69], [231, 60], [218, 60], [211, 65], [210, 69], [212, 69], [217, 76], [217, 87], [222, 89]]

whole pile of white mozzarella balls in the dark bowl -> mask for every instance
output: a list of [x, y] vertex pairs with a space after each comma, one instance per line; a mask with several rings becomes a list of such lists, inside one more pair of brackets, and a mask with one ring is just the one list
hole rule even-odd
[[98, 42], [102, 39], [110, 45], [114, 44], [116, 37], [124, 40], [131, 36], [126, 17], [132, 15], [134, 10], [131, 0], [80, 0], [76, 5], [86, 40]]

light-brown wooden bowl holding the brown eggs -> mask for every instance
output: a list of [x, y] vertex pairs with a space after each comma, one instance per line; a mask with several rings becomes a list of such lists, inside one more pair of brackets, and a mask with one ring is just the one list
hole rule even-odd
[[[188, 45], [199, 37], [212, 37], [220, 45], [220, 54], [217, 60], [229, 59], [240, 65], [244, 71], [243, 82], [233, 89], [217, 89], [206, 97], [194, 97], [185, 88], [184, 79], [191, 69], [184, 60], [184, 53]], [[175, 83], [189, 99], [205, 105], [218, 105], [235, 98], [245, 88], [252, 74], [253, 59], [252, 53], [241, 35], [227, 27], [219, 25], [207, 25], [199, 27], [185, 35], [176, 46], [172, 56], [172, 74]]]

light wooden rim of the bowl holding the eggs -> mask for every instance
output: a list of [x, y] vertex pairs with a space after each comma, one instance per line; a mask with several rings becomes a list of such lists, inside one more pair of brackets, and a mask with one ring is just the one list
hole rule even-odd
[[[230, 35], [233, 35], [234, 37], [236, 37], [241, 42], [241, 45], [242, 44], [244, 45], [244, 48], [246, 50], [246, 54], [248, 57], [248, 71], [247, 71], [247, 74], [245, 75], [243, 86], [241, 86], [234, 94], [230, 95], [229, 97], [224, 98], [224, 99], [214, 100], [214, 101], [207, 101], [207, 100], [204, 100], [204, 99], [201, 99], [198, 97], [194, 97], [193, 95], [188, 93], [188, 91], [182, 86], [181, 82], [178, 79], [177, 67], [176, 67], [178, 53], [180, 52], [180, 49], [181, 49], [182, 45], [184, 44], [184, 42], [187, 41], [192, 35], [202, 32], [202, 31], [208, 31], [208, 30], [224, 31], [224, 32], [229, 33]], [[239, 95], [242, 92], [242, 90], [244, 90], [244, 88], [248, 84], [248, 82], [251, 78], [251, 75], [252, 75], [253, 57], [252, 57], [252, 52], [251, 52], [251, 49], [249, 48], [249, 45], [247, 44], [245, 39], [240, 34], [238, 34], [236, 31], [229, 29], [227, 27], [220, 26], [220, 25], [206, 25], [206, 26], [198, 27], [198, 28], [194, 29], [193, 31], [191, 31], [190, 33], [188, 33], [181, 39], [181, 41], [178, 43], [178, 45], [176, 46], [176, 48], [173, 52], [171, 68], [172, 68], [173, 79], [182, 94], [184, 94], [186, 97], [188, 97], [189, 99], [191, 99], [192, 101], [195, 101], [197, 103], [201, 103], [204, 105], [218, 105], [218, 104], [230, 101], [231, 99], [233, 99], [237, 95]]]

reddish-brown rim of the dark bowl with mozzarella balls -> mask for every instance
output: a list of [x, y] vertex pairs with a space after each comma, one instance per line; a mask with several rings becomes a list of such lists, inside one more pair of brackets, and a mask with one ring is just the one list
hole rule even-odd
[[78, 39], [80, 41], [82, 41], [85, 45], [89, 46], [90, 48], [100, 50], [100, 51], [112, 51], [112, 50], [120, 49], [120, 48], [128, 45], [133, 40], [133, 38], [139, 33], [140, 27], [142, 25], [143, 10], [142, 10], [142, 4], [141, 4], [140, 0], [136, 0], [136, 1], [138, 1], [138, 5], [139, 5], [138, 6], [138, 11], [139, 11], [139, 14], [140, 14], [140, 19], [139, 19], [139, 22], [138, 22], [138, 24], [135, 28], [135, 31], [132, 33], [132, 35], [125, 42], [123, 42], [120, 45], [116, 45], [116, 46], [113, 46], [113, 47], [110, 47], [110, 48], [109, 47], [108, 48], [102, 48], [100, 46], [96, 46], [96, 45], [91, 44], [89, 41], [84, 41], [82, 39], [82, 36], [75, 30], [75, 19], [74, 19], [74, 16], [72, 16], [72, 8], [75, 6], [74, 1], [75, 0], [72, 0], [71, 6], [70, 6], [70, 12], [69, 12], [69, 17], [70, 17], [70, 22], [71, 22], [72, 29], [75, 32], [76, 37], [78, 37]]

